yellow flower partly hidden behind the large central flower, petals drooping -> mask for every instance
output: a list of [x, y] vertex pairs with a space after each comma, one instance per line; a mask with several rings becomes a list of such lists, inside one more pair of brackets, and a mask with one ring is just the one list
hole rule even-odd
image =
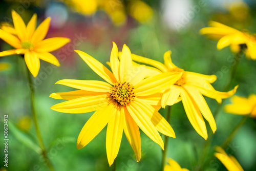
[[135, 54], [132, 54], [132, 58], [135, 61], [146, 63], [157, 68], [158, 72], [156, 72], [156, 74], [172, 71], [182, 74], [181, 78], [174, 84], [170, 85], [163, 93], [161, 105], [163, 108], [165, 108], [166, 105], [173, 105], [177, 102], [179, 96], [181, 96], [181, 100], [190, 123], [199, 135], [204, 139], [207, 139], [207, 130], [202, 115], [209, 122], [211, 130], [214, 133], [216, 131], [216, 123], [203, 95], [209, 98], [214, 98], [221, 103], [221, 99], [232, 96], [236, 92], [238, 86], [225, 93], [216, 91], [210, 84], [217, 79], [215, 75], [203, 75], [195, 72], [184, 71], [174, 65], [170, 58], [171, 53], [171, 51], [165, 52], [164, 65], [161, 62]]

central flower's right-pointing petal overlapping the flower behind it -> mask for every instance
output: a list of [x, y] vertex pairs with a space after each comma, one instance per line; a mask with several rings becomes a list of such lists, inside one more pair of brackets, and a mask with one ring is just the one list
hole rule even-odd
[[137, 96], [147, 96], [161, 92], [174, 84], [181, 75], [182, 73], [165, 72], [146, 78], [134, 86], [134, 91]]

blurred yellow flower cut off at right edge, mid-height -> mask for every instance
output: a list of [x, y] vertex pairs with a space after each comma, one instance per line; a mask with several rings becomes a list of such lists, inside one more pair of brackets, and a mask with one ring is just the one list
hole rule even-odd
[[256, 118], [256, 95], [251, 94], [248, 98], [233, 96], [233, 104], [227, 104], [225, 112], [236, 115], [249, 115]]

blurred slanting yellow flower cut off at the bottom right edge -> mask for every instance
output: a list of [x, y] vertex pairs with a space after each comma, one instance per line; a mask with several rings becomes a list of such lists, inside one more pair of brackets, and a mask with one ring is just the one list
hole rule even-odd
[[215, 153], [214, 156], [217, 157], [222, 164], [229, 171], [243, 171], [244, 169], [241, 167], [236, 158], [231, 155], [227, 155], [226, 152], [219, 146], [215, 148], [218, 153]]

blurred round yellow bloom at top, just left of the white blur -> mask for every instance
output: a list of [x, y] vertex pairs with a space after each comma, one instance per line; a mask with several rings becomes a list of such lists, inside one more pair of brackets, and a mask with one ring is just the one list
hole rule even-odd
[[147, 23], [153, 16], [152, 8], [142, 1], [134, 0], [129, 5], [129, 13], [141, 23]]

